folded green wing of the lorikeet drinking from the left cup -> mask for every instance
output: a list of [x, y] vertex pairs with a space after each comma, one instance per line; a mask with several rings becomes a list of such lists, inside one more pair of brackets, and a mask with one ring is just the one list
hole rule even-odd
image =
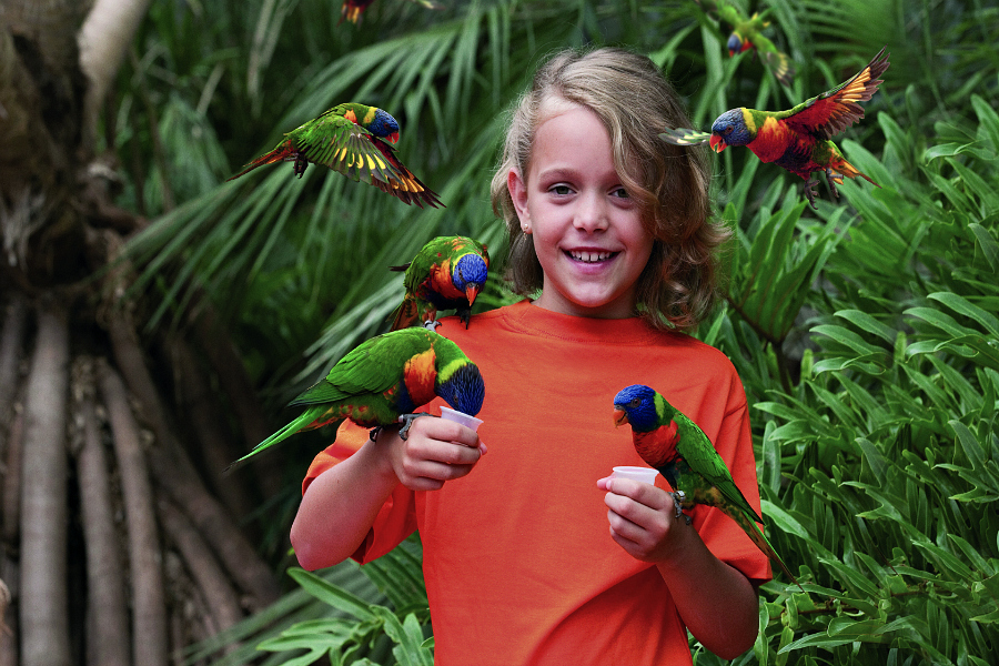
[[302, 392], [290, 406], [387, 391], [402, 380], [406, 361], [432, 346], [432, 335], [436, 333], [404, 329], [372, 337], [341, 359], [324, 380]]

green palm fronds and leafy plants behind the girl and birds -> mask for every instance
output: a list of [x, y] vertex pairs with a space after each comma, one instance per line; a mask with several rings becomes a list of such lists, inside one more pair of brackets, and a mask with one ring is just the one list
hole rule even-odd
[[[733, 0], [744, 10], [757, 3]], [[738, 105], [786, 109], [844, 81], [887, 43], [867, 118], [839, 140], [881, 188], [847, 182], [818, 211], [748, 151], [716, 158], [736, 233], [727, 299], [698, 336], [746, 386], [764, 515], [806, 592], [765, 585], [747, 664], [988, 664], [999, 654], [999, 8], [957, 0], [773, 0], [768, 34], [798, 73], [781, 88], [692, 0], [381, 0], [340, 24], [330, 0], [154, 3], [104, 141], [120, 204], [155, 220], [130, 245], [150, 327], [206, 296], [259, 390], [281, 405], [384, 330], [403, 263], [462, 233], [504, 255], [488, 180], [504, 110], [546, 54], [648, 53], [697, 128]], [[750, 7], [751, 6], [751, 7]], [[447, 204], [273, 167], [226, 183], [281, 133], [342, 101], [390, 110], [407, 165]], [[494, 280], [476, 303], [509, 295]], [[301, 477], [323, 435], [281, 465]], [[297, 486], [272, 497], [261, 549], [286, 566]], [[191, 660], [428, 664], [418, 543], [309, 574]], [[720, 659], [692, 638], [698, 664]], [[263, 650], [263, 652], [260, 652]]]

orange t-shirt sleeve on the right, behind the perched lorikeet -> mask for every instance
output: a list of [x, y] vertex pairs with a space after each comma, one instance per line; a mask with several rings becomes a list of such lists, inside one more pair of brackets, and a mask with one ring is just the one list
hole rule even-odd
[[[749, 411], [741, 382], [737, 376], [730, 385], [729, 398], [717, 434], [712, 438], [715, 448], [731, 472], [733, 481], [749, 505], [760, 513]], [[699, 515], [695, 514], [695, 526], [715, 557], [731, 565], [750, 581], [764, 583], [774, 577], [769, 558], [756, 547], [735, 521], [720, 511], [704, 507]]]

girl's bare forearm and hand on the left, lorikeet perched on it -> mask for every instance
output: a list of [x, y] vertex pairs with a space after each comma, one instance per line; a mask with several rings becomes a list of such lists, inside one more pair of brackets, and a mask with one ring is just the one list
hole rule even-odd
[[475, 431], [443, 418], [415, 420], [405, 442], [397, 427], [382, 428], [377, 442], [366, 442], [305, 491], [291, 528], [299, 564], [312, 571], [346, 559], [396, 485], [438, 490], [468, 474], [485, 451]]

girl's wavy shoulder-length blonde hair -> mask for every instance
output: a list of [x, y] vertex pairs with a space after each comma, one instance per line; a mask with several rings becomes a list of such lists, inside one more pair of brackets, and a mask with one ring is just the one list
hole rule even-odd
[[695, 327], [717, 292], [717, 249], [728, 231], [712, 220], [710, 168], [704, 149], [659, 139], [667, 127], [690, 127], [673, 87], [646, 57], [622, 49], [567, 50], [538, 69], [513, 110], [500, 168], [493, 176], [493, 210], [506, 222], [506, 278], [516, 293], [541, 289], [543, 272], [531, 238], [521, 230], [507, 189], [516, 169], [526, 181], [545, 102], [563, 99], [586, 107], [610, 135], [614, 167], [643, 211], [653, 253], [637, 284], [642, 316], [654, 326]]

